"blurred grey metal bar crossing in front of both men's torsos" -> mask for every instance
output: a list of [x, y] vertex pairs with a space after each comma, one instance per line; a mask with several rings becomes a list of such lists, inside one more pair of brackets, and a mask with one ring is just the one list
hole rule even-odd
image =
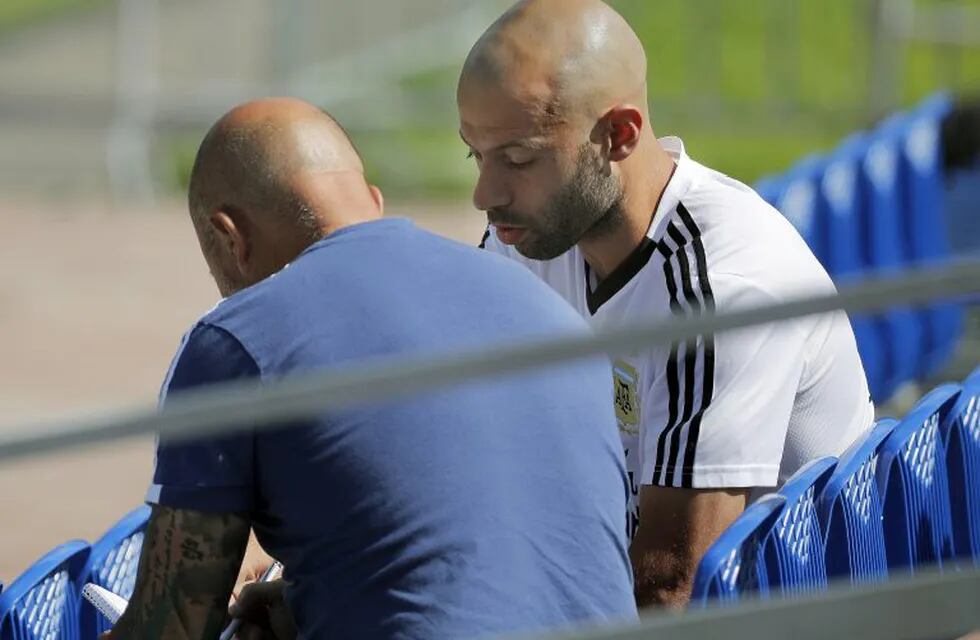
[[867, 312], [980, 291], [980, 262], [929, 267], [875, 277], [839, 293], [719, 315], [653, 320], [581, 337], [494, 345], [476, 351], [375, 359], [327, 372], [289, 376], [278, 383], [245, 381], [191, 391], [163, 411], [135, 409], [73, 422], [0, 430], [0, 461], [127, 436], [205, 436], [374, 403], [503, 373], [558, 362], [669, 344], [698, 335], [844, 309]]

